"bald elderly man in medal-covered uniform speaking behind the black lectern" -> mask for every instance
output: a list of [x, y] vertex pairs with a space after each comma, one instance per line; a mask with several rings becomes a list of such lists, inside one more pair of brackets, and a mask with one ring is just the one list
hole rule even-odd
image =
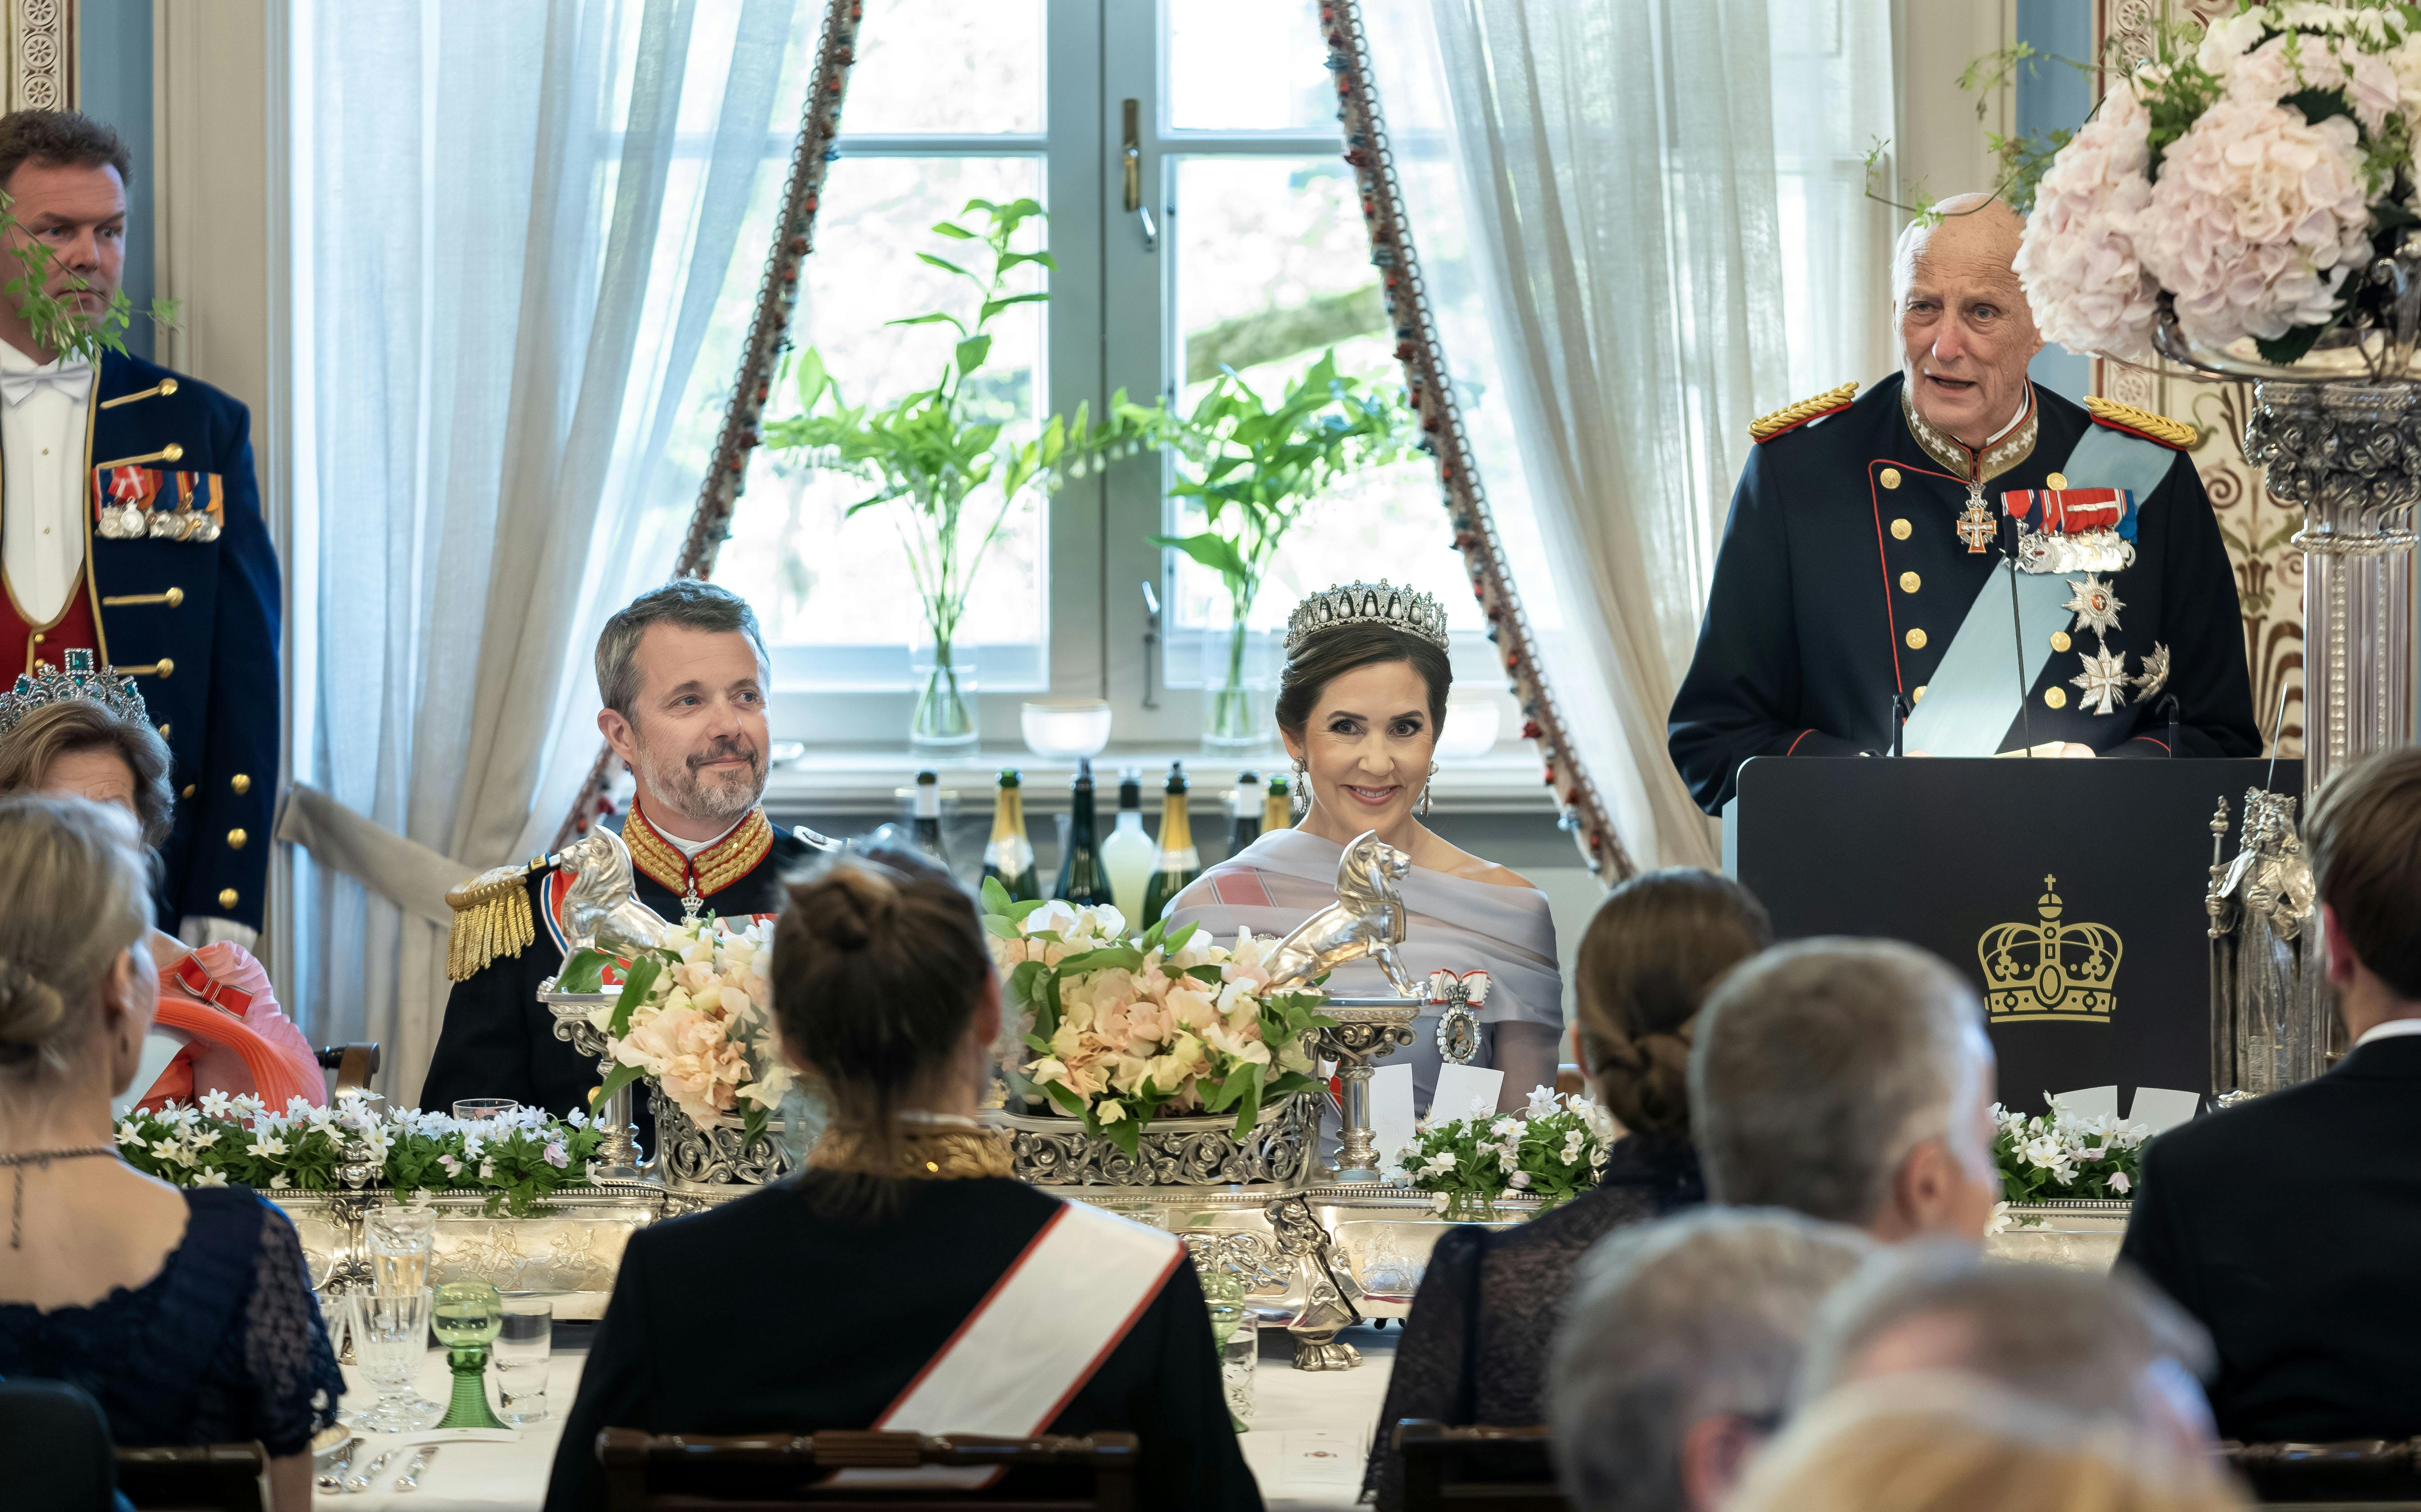
[[[1760, 755], [2244, 757], [2244, 619], [2176, 421], [2026, 380], [2022, 220], [1963, 194], [1891, 259], [1900, 373], [1750, 426], [1668, 748], [1721, 813]], [[2012, 571], [2014, 559], [2014, 571]]]

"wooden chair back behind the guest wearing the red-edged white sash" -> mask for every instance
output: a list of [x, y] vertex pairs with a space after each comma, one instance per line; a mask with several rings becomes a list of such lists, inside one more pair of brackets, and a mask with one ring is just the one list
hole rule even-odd
[[[925, 1507], [927, 1512], [1140, 1512], [1135, 1483], [1135, 1435], [1097, 1432], [1082, 1439], [995, 1439], [973, 1435], [927, 1437], [915, 1432], [813, 1432], [813, 1435], [646, 1435], [608, 1427], [598, 1435], [605, 1466], [608, 1512], [874, 1512], [876, 1507]], [[1063, 1471], [1068, 1488], [1089, 1473], [1089, 1495], [1043, 1495], [968, 1488], [859, 1488], [826, 1485], [833, 1471], [1039, 1468]], [[1073, 1473], [1073, 1476], [1070, 1476]]]

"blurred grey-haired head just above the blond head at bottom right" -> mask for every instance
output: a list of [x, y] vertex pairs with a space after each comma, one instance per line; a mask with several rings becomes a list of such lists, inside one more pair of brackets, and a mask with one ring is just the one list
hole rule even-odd
[[2084, 1422], [2208, 1452], [2210, 1335], [2121, 1270], [1983, 1260], [1959, 1243], [1876, 1253], [1825, 1299], [1796, 1401], [1905, 1372], [1963, 1372]]

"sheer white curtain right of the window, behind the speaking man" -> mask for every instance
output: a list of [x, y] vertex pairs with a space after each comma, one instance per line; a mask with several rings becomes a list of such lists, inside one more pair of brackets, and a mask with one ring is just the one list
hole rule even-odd
[[[1382, 0], [1380, 104], [1540, 663], [1639, 866], [1748, 423], [1891, 365], [1888, 0]], [[1453, 174], [1443, 172], [1445, 162]]]

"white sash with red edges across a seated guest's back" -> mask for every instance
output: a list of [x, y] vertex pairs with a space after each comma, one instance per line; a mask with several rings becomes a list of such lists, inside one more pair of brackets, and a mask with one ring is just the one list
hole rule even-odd
[[[1063, 1202], [874, 1427], [1039, 1435], [1102, 1369], [1184, 1258], [1186, 1243], [1172, 1234]], [[981, 1488], [997, 1478], [997, 1468], [925, 1466], [840, 1471], [828, 1485]]]

